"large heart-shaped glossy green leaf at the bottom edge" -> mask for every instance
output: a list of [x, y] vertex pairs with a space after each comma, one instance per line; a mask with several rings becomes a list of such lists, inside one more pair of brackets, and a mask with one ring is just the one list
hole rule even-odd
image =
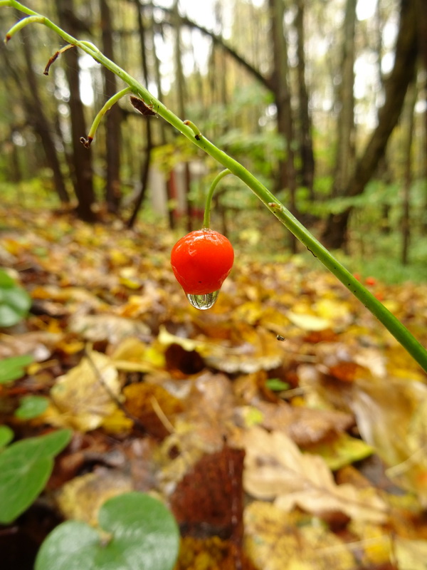
[[164, 504], [130, 492], [105, 502], [98, 521], [104, 539], [84, 522], [68, 521], [48, 535], [38, 551], [35, 570], [172, 570], [179, 550], [179, 530]]

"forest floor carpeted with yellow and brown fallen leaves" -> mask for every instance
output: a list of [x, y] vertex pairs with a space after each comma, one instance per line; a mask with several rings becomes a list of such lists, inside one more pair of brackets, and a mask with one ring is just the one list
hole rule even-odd
[[[0, 385], [0, 424], [74, 433], [42, 497], [0, 527], [6, 570], [32, 567], [18, 542], [31, 553], [130, 489], [174, 512], [176, 569], [426, 568], [427, 377], [334, 276], [236, 249], [198, 311], [167, 230], [18, 207], [0, 219], [0, 265], [33, 303], [0, 331], [0, 360], [34, 358]], [[367, 286], [426, 346], [427, 284]], [[46, 410], [16, 418], [25, 395]]]

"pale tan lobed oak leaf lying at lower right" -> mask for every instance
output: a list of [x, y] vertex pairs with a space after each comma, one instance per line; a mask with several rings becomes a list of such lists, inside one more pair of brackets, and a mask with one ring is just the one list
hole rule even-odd
[[244, 487], [257, 499], [274, 499], [290, 511], [298, 506], [313, 514], [342, 512], [348, 517], [381, 523], [386, 504], [374, 489], [337, 485], [325, 460], [303, 454], [282, 432], [268, 433], [255, 426], [244, 437]]

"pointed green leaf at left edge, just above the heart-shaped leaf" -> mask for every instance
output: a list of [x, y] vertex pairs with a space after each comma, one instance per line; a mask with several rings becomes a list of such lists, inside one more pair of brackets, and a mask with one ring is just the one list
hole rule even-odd
[[0, 524], [9, 524], [41, 493], [53, 468], [53, 457], [70, 441], [70, 430], [58, 430], [13, 443], [0, 452]]

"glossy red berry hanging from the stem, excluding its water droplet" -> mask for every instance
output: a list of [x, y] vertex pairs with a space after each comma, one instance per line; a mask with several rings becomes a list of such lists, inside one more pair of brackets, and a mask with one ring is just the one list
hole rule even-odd
[[172, 248], [171, 264], [176, 281], [189, 295], [218, 291], [233, 266], [233, 246], [212, 229], [196, 229]]

